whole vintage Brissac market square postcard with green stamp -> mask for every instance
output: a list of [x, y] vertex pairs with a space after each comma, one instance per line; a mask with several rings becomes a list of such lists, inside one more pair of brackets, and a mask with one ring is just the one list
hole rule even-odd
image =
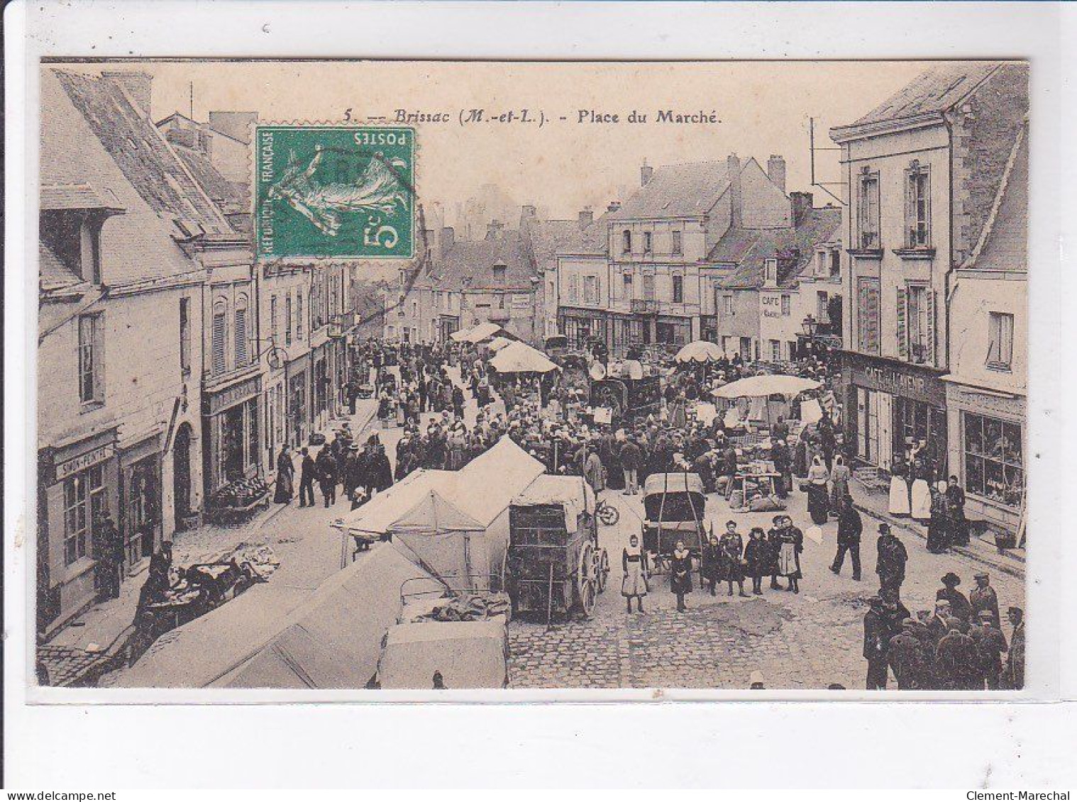
[[38, 82], [39, 686], [1024, 688], [1027, 64]]

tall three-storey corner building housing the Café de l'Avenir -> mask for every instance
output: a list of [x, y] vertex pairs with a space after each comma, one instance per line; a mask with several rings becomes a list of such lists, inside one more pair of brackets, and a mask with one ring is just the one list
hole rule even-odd
[[1027, 109], [1027, 69], [953, 64], [925, 72], [847, 126], [849, 203], [844, 432], [853, 455], [887, 469], [921, 445], [951, 464], [947, 375], [954, 272], [982, 236]]

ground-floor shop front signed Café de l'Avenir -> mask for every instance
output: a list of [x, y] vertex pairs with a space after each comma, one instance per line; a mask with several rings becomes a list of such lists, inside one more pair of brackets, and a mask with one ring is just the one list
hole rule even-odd
[[947, 393], [939, 371], [844, 351], [841, 375], [852, 456], [889, 470], [895, 454], [924, 444], [936, 477], [947, 476]]

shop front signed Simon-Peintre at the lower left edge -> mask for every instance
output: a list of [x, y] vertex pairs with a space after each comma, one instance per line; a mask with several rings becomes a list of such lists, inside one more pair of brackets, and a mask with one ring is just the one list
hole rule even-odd
[[120, 510], [116, 427], [38, 454], [37, 628], [50, 632], [97, 595], [99, 521]]

